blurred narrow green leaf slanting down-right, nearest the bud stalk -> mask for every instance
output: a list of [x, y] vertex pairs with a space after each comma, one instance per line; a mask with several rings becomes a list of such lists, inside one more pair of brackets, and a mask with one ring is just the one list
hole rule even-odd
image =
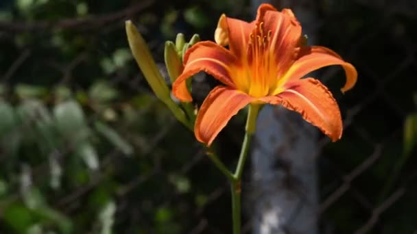
[[110, 143], [119, 148], [125, 155], [132, 155], [133, 147], [126, 140], [124, 140], [117, 131], [104, 124], [104, 122], [96, 121], [94, 123], [95, 129], [101, 133]]

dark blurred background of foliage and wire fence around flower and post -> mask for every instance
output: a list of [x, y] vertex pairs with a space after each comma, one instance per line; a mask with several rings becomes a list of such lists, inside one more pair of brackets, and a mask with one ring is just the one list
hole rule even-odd
[[[340, 68], [320, 77], [345, 125], [342, 140], [318, 143], [320, 233], [415, 233], [417, 4], [313, 2], [318, 44], [359, 72], [344, 95]], [[220, 14], [252, 10], [247, 0], [0, 1], [0, 233], [230, 233], [228, 184], [150, 92], [124, 21], [163, 70], [165, 40], [213, 40]], [[213, 84], [200, 83], [198, 103]], [[217, 140], [228, 165], [243, 121]], [[245, 233], [250, 219], [244, 211]]]

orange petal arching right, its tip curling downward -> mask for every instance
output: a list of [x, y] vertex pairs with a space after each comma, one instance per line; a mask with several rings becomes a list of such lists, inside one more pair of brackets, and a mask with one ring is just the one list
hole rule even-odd
[[331, 49], [326, 47], [306, 47], [303, 48], [301, 57], [294, 62], [285, 74], [288, 81], [300, 79], [304, 75], [311, 73], [324, 66], [341, 65], [346, 73], [346, 83], [342, 92], [346, 92], [355, 86], [357, 80], [357, 71], [352, 64], [344, 62], [342, 58]]

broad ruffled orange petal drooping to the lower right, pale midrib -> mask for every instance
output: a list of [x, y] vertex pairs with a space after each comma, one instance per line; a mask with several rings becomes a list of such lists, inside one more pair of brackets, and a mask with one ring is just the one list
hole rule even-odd
[[289, 88], [280, 94], [260, 100], [299, 112], [302, 118], [318, 127], [333, 142], [342, 136], [339, 107], [331, 92], [317, 79], [298, 79], [289, 83]]

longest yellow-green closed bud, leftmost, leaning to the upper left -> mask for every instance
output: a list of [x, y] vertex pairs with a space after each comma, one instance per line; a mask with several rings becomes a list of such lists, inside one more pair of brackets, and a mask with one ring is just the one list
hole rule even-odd
[[164, 102], [167, 99], [171, 99], [165, 79], [160, 75], [145, 40], [143, 40], [141, 34], [139, 34], [139, 31], [131, 21], [126, 21], [126, 34], [128, 35], [129, 46], [132, 50], [133, 57], [155, 95]]

